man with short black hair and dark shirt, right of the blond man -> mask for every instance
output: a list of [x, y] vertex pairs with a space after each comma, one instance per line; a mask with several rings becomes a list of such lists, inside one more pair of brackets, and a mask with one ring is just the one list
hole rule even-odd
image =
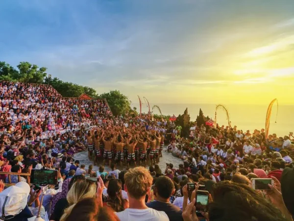
[[166, 176], [158, 177], [153, 193], [155, 201], [147, 203], [147, 207], [165, 212], [170, 221], [183, 220], [181, 209], [170, 202], [170, 197], [174, 191], [174, 185], [171, 179]]

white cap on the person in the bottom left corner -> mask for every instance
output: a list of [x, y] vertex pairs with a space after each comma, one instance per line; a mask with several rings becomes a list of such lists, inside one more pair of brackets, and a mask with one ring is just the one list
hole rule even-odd
[[0, 193], [0, 219], [21, 213], [27, 205], [29, 192], [30, 187], [25, 182], [19, 182], [2, 191]]

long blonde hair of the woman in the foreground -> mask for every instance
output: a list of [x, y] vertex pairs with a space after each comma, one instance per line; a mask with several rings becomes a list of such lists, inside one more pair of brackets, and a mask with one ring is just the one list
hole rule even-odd
[[78, 180], [73, 184], [73, 187], [67, 194], [67, 201], [69, 207], [64, 210], [60, 221], [65, 221], [71, 214], [73, 207], [77, 202], [85, 198], [93, 198], [96, 195], [96, 184], [95, 182], [87, 179]]

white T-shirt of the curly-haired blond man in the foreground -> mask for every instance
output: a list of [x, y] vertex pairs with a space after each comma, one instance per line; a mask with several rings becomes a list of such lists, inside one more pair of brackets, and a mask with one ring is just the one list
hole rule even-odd
[[151, 208], [125, 209], [122, 212], [116, 213], [120, 221], [169, 221], [169, 217], [165, 212], [157, 211]]

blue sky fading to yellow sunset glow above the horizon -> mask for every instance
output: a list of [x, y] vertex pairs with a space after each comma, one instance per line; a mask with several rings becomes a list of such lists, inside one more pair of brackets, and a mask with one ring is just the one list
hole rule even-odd
[[138, 103], [294, 104], [294, 0], [1, 0], [0, 60]]

